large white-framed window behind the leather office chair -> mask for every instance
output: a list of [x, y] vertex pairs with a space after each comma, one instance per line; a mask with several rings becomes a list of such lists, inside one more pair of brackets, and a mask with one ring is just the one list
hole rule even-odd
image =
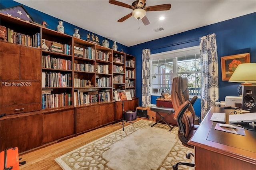
[[200, 95], [201, 60], [199, 46], [156, 53], [151, 58], [152, 95], [162, 90], [171, 92], [172, 79], [176, 76], [188, 78], [190, 95]]

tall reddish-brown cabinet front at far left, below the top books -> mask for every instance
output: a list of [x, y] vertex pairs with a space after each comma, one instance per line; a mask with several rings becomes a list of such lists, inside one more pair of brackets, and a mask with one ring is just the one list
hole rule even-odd
[[39, 111], [40, 49], [8, 42], [0, 46], [1, 113]]

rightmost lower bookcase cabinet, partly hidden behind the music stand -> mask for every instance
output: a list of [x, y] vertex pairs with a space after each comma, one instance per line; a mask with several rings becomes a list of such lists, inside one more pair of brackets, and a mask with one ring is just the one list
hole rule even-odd
[[[124, 111], [134, 110], [139, 105], [138, 98], [133, 98], [131, 101], [124, 101]], [[116, 101], [116, 121], [122, 120], [122, 101]]]

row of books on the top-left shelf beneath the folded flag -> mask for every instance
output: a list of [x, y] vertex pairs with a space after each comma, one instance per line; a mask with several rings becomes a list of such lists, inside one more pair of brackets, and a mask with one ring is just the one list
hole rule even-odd
[[14, 32], [14, 30], [7, 28], [7, 41], [10, 43], [17, 43], [40, 48], [40, 33], [33, 34], [31, 37], [25, 34]]

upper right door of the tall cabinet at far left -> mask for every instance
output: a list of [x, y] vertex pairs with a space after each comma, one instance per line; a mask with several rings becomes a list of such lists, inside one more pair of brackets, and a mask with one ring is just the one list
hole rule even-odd
[[20, 79], [41, 81], [41, 68], [40, 49], [20, 46]]

